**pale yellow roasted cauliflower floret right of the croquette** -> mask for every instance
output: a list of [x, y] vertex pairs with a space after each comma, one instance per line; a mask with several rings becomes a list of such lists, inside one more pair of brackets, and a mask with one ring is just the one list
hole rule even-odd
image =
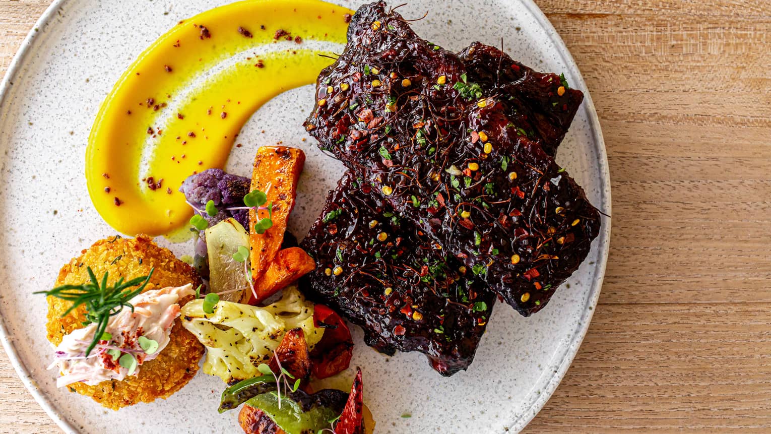
[[181, 318], [183, 327], [207, 348], [204, 372], [227, 383], [260, 375], [258, 365], [268, 362], [286, 331], [302, 328], [309, 348], [324, 333], [313, 325], [313, 303], [295, 286], [284, 288], [281, 299], [264, 308], [219, 301], [214, 313], [207, 314], [203, 300], [190, 301]]

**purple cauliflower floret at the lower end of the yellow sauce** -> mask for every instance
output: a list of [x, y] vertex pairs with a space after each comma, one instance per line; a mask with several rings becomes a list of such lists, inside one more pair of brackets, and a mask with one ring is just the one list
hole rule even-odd
[[[210, 217], [205, 212], [203, 217], [209, 222], [209, 227], [233, 217], [243, 227], [249, 227], [248, 210], [227, 210], [227, 207], [244, 207], [244, 196], [249, 193], [251, 180], [225, 173], [221, 169], [207, 169], [201, 173], [190, 175], [182, 183], [180, 191], [187, 201], [199, 210], [204, 210], [209, 200], [214, 200], [214, 205], [219, 212]], [[201, 213], [199, 213], [201, 214]]]

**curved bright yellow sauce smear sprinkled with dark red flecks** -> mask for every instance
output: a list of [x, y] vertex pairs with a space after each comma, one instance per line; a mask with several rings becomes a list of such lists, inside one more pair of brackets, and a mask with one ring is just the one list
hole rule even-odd
[[[262, 104], [315, 82], [332, 62], [319, 54], [331, 53], [308, 45], [345, 43], [346, 14], [318, 0], [249, 0], [161, 36], [116, 83], [89, 136], [86, 182], [103, 219], [130, 235], [187, 224], [182, 181], [224, 167]], [[288, 35], [274, 39], [279, 30]]]

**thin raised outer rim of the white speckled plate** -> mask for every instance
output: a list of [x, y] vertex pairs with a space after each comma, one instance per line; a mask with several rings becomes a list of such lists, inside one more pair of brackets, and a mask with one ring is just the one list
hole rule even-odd
[[[35, 22], [35, 25], [25, 36], [25, 39], [22, 40], [22, 44], [19, 46], [19, 50], [16, 52], [12, 61], [8, 65], [8, 69], [5, 71], [5, 76], [2, 78], [2, 81], [0, 81], [0, 106], [3, 106], [6, 99], [8, 98], [8, 91], [11, 89], [11, 86], [13, 86], [12, 80], [18, 76], [20, 70], [22, 69], [23, 62], [27, 56], [29, 56], [29, 53], [31, 52], [30, 49], [34, 44], [35, 39], [37, 39], [38, 36], [43, 33], [41, 29], [49, 25], [51, 19], [56, 16], [56, 11], [68, 1], [69, 0], [53, 0], [51, 5], [49, 5], [48, 8], [45, 8], [45, 11], [42, 13], [42, 15], [40, 15], [40, 18]], [[565, 66], [567, 66], [567, 69], [570, 70], [571, 79], [574, 82], [577, 82], [579, 85], [577, 87], [579, 89], [584, 89], [584, 109], [588, 114], [588, 124], [591, 128], [592, 137], [594, 139], [594, 150], [597, 153], [598, 168], [601, 173], [601, 185], [599, 189], [601, 192], [601, 204], [599, 204], [599, 208], [604, 214], [610, 216], [611, 176], [608, 166], [608, 154], [605, 149], [605, 142], [599, 116], [597, 114], [597, 110], [594, 108], [594, 103], [591, 99], [589, 89], [586, 86], [586, 82], [584, 81], [584, 77], [581, 75], [581, 70], [578, 69], [578, 65], [575, 62], [575, 59], [571, 55], [571, 52], [567, 49], [567, 45], [565, 45], [561, 36], [557, 32], [557, 29], [554, 29], [554, 25], [551, 24], [547, 16], [543, 11], [540, 10], [534, 0], [514, 1], [520, 2], [520, 4], [523, 5], [524, 8], [527, 8], [527, 11], [533, 15], [534, 19], [537, 21], [537, 24], [540, 25], [540, 27], [547, 33], [547, 37], [550, 39], [550, 42], [554, 44], [554, 47], [557, 49], [557, 52], [561, 59], [564, 61]], [[520, 412], [520, 415], [517, 415], [511, 420], [510, 426], [508, 427], [509, 430], [512, 430], [513, 432], [519, 432], [535, 418], [538, 412], [544, 408], [546, 402], [551, 398], [551, 395], [554, 394], [554, 391], [560, 385], [562, 378], [564, 378], [564, 375], [567, 373], [567, 369], [570, 368], [571, 364], [573, 363], [573, 360], [578, 352], [578, 348], [581, 347], [581, 342], [584, 341], [584, 337], [588, 332], [589, 325], [591, 324], [591, 318], [594, 316], [594, 311], [596, 310], [596, 306], [598, 304], [602, 284], [605, 277], [605, 271], [608, 264], [610, 237], [611, 219], [605, 217], [602, 221], [601, 233], [596, 241], [598, 245], [597, 248], [599, 248], [600, 251], [598, 251], [598, 261], [595, 261], [594, 278], [591, 280], [591, 296], [588, 298], [587, 303], [584, 305], [584, 314], [581, 316], [580, 320], [577, 321], [576, 328], [574, 328], [574, 332], [572, 334], [572, 340], [566, 345], [565, 352], [563, 353], [561, 361], [559, 362], [557, 371], [548, 376], [545, 381], [540, 381], [534, 386], [535, 389], [539, 389], [542, 392], [539, 394], [529, 394], [530, 402], [526, 402], [524, 405], [524, 411]], [[32, 397], [36, 402], [38, 402], [45, 413], [49, 415], [49, 417], [54, 422], [56, 422], [56, 425], [59, 426], [59, 428], [64, 432], [67, 432], [68, 434], [79, 434], [79, 430], [76, 429], [75, 426], [72, 426], [72, 423], [70, 423], [62, 415], [62, 413], [58, 411], [59, 409], [52, 404], [48, 396], [44, 395], [41, 389], [39, 389], [36, 385], [35, 379], [32, 378], [32, 375], [30, 375], [30, 372], [24, 365], [24, 362], [22, 362], [22, 359], [19, 358], [19, 353], [16, 351], [15, 345], [12, 342], [10, 335], [8, 335], [8, 329], [5, 327], [5, 319], [3, 318], [0, 318], [0, 342], [2, 342], [5, 353], [8, 355], [8, 359], [15, 369], [16, 374], [19, 375], [22, 383], [25, 385], [27, 390], [29, 390], [29, 392], [32, 394]], [[544, 377], [542, 376], [541, 378]]]

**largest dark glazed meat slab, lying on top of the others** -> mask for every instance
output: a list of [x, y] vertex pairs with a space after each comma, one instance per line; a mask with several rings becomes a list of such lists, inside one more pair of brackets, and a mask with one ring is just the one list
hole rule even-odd
[[[403, 220], [527, 316], [587, 256], [599, 214], [538, 141], [559, 135], [517, 125], [508, 103], [516, 92], [479, 95], [469, 76], [481, 73], [469, 71], [384, 3], [364, 5], [345, 51], [318, 78], [305, 127]], [[576, 94], [559, 95], [554, 81], [539, 81], [547, 103], [573, 106]]]

